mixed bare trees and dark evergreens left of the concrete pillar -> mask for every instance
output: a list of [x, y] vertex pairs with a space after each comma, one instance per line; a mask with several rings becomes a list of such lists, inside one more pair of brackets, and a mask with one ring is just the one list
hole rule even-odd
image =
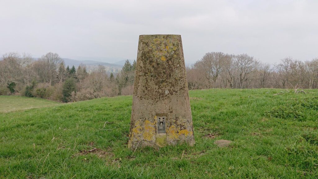
[[114, 76], [99, 65], [88, 73], [85, 65], [65, 66], [56, 53], [37, 60], [30, 54], [7, 53], [0, 60], [0, 95], [19, 94], [54, 101], [82, 101], [133, 93], [136, 62], [125, 62]]

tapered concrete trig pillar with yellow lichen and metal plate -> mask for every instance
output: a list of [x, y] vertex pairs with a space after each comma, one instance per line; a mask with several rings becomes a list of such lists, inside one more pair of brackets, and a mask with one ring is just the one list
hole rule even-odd
[[128, 147], [195, 143], [181, 35], [140, 35]]

